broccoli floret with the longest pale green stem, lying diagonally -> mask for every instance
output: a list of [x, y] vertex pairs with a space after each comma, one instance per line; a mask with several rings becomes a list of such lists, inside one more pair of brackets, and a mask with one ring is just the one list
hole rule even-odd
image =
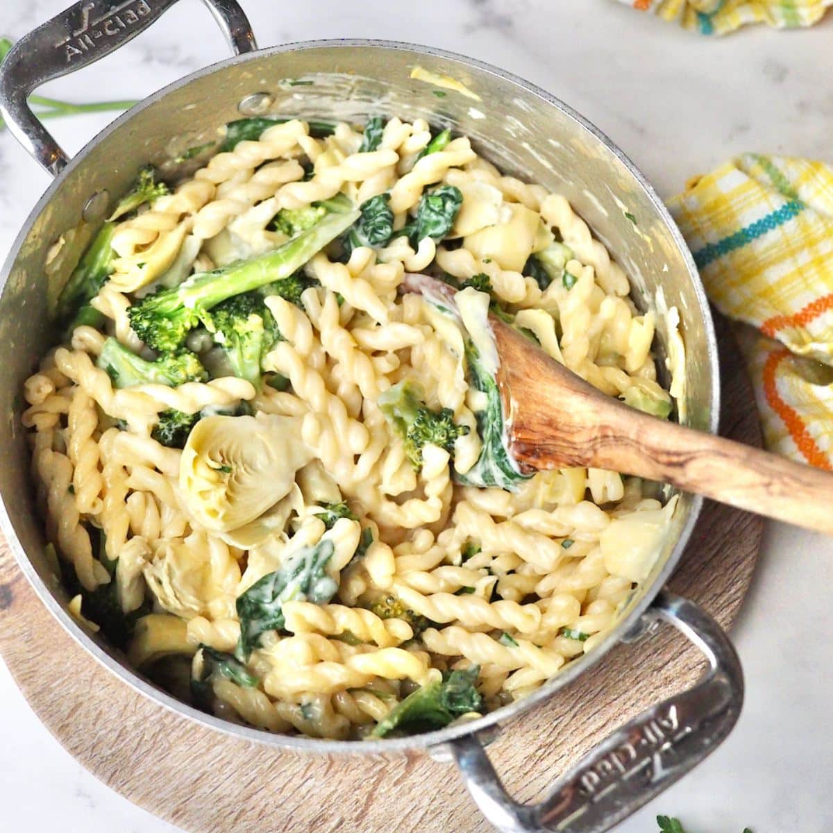
[[358, 212], [330, 214], [272, 252], [213, 272], [198, 272], [177, 287], [142, 298], [129, 310], [133, 330], [155, 350], [176, 350], [188, 331], [199, 323], [200, 312], [234, 295], [292, 277], [327, 243], [352, 226], [358, 216]]

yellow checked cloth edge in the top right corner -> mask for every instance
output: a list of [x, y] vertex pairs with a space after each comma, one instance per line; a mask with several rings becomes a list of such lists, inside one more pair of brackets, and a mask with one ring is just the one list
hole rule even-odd
[[620, 0], [642, 12], [678, 21], [693, 32], [724, 35], [746, 23], [778, 28], [812, 26], [833, 0]]

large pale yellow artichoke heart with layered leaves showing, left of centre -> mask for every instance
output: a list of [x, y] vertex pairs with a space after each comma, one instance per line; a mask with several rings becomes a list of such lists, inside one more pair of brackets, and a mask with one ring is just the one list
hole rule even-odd
[[310, 460], [297, 417], [207, 416], [188, 436], [179, 486], [199, 526], [228, 532], [287, 496]]

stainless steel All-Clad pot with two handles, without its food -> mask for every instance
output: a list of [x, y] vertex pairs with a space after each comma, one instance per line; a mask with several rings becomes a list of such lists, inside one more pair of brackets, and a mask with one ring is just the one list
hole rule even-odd
[[[680, 310], [687, 380], [681, 412], [688, 424], [702, 430], [715, 431], [717, 426], [717, 352], [711, 317], [694, 263], [665, 207], [641, 173], [595, 127], [547, 92], [495, 67], [450, 52], [382, 41], [313, 41], [256, 51], [237, 3], [205, 0], [236, 56], [148, 97], [68, 161], [33, 116], [27, 95], [42, 82], [112, 52], [174, 2], [123, 0], [115, 7], [112, 0], [77, 2], [22, 38], [0, 72], [2, 117], [55, 177], [17, 236], [2, 271], [0, 343], [5, 346], [5, 373], [0, 406], [11, 416], [0, 422], [0, 523], [22, 571], [57, 621], [103, 666], [143, 695], [193, 721], [247, 740], [311, 753], [425, 750], [456, 761], [478, 806], [501, 831], [606, 831], [708, 755], [729, 733], [741, 709], [741, 666], [725, 634], [691, 601], [662, 590], [700, 511], [698, 497], [681, 496], [670, 540], [656, 567], [600, 646], [526, 700], [426, 735], [342, 743], [271, 735], [217, 720], [160, 691], [67, 615], [67, 600], [42, 555], [42, 521], [33, 501], [20, 425], [22, 382], [52, 337], [44, 272], [47, 250], [67, 229], [82, 221], [99, 222], [107, 202], [127, 188], [142, 164], [161, 161], [196, 138], [213, 136], [218, 126], [241, 113], [336, 116], [357, 122], [371, 112], [407, 119], [421, 116], [468, 134], [478, 150], [505, 172], [564, 193], [626, 268], [636, 302], [644, 306], [662, 290], [666, 302]], [[457, 92], [435, 97], [430, 85], [410, 79], [417, 64], [462, 79], [479, 99]], [[315, 83], [302, 87], [280, 83], [297, 77]], [[638, 226], [626, 212], [636, 217]], [[665, 327], [662, 319], [661, 348], [667, 343]], [[651, 706], [611, 734], [561, 776], [541, 804], [522, 806], [512, 801], [484, 745], [511, 718], [570, 685], [616, 643], [632, 641], [657, 621], [675, 626], [706, 655], [709, 667], [697, 686]], [[650, 641], [645, 650], [651, 650]]]

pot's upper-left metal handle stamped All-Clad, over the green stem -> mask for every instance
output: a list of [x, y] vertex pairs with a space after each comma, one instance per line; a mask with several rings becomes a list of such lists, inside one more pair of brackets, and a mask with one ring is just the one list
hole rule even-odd
[[[177, 0], [79, 0], [24, 35], [0, 66], [0, 115], [18, 142], [52, 176], [69, 157], [27, 103], [41, 84], [75, 72], [143, 32]], [[257, 48], [237, 0], [203, 0], [236, 55]]]

